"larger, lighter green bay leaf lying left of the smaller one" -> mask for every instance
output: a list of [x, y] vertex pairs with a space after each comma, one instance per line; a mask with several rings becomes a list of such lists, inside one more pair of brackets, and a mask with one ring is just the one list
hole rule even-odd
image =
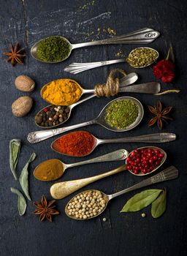
[[147, 189], [131, 197], [123, 206], [121, 212], [140, 211], [149, 206], [162, 192], [161, 189]]

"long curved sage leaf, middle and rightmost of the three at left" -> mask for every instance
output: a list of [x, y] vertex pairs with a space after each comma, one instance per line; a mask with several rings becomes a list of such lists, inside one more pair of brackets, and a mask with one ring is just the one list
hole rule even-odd
[[28, 162], [26, 162], [26, 165], [23, 167], [23, 170], [20, 173], [20, 187], [23, 189], [24, 194], [28, 198], [28, 200], [31, 200], [31, 197], [28, 192], [28, 165], [34, 161], [34, 159], [37, 157], [35, 153], [31, 154], [31, 157], [28, 159]]

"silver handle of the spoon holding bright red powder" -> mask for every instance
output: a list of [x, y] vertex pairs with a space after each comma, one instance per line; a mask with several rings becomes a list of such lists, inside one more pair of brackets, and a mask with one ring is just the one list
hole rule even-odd
[[176, 139], [175, 133], [153, 133], [150, 135], [140, 135], [129, 138], [113, 138], [113, 139], [99, 139], [98, 145], [102, 143], [166, 143]]

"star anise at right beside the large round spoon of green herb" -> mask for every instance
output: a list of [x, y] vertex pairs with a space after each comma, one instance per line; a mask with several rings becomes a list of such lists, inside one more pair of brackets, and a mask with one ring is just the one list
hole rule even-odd
[[157, 125], [161, 129], [163, 127], [163, 121], [167, 123], [167, 120], [172, 120], [172, 118], [169, 118], [169, 116], [167, 116], [169, 112], [172, 110], [172, 107], [167, 107], [163, 109], [161, 102], [159, 101], [156, 107], [148, 106], [148, 108], [150, 112], [153, 113], [153, 115], [155, 115], [155, 117], [150, 119], [150, 121], [148, 122], [149, 127], [151, 127], [157, 121]]

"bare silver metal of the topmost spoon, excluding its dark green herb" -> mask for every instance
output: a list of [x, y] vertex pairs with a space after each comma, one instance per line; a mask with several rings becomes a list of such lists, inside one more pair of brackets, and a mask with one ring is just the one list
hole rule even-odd
[[[139, 43], [145, 43], [148, 44], [150, 42], [153, 42], [154, 39], [156, 39], [157, 37], [159, 37], [160, 33], [158, 31], [155, 31], [153, 29], [140, 29], [134, 32], [131, 32], [129, 34], [123, 34], [121, 36], [118, 37], [110, 37], [107, 39], [102, 39], [99, 41], [93, 41], [93, 42], [82, 42], [82, 43], [78, 43], [78, 44], [71, 44], [65, 37], [61, 37], [64, 40], [66, 40], [66, 42], [69, 44], [69, 54], [64, 58], [61, 59], [61, 61], [64, 61], [65, 59], [67, 59], [72, 50], [76, 49], [76, 48], [82, 48], [85, 46], [91, 46], [91, 45], [110, 45], [110, 44], [139, 44]], [[58, 36], [60, 37], [60, 36]], [[45, 38], [44, 38], [45, 39]], [[37, 54], [37, 48], [39, 47], [40, 42], [42, 42], [43, 39], [39, 40], [38, 42], [36, 42], [32, 48], [31, 48], [31, 56], [34, 59], [37, 59], [37, 61], [42, 61], [41, 59], [39, 59], [38, 54]], [[61, 62], [61, 61], [42, 61], [45, 63], [57, 63], [57, 62]]]

